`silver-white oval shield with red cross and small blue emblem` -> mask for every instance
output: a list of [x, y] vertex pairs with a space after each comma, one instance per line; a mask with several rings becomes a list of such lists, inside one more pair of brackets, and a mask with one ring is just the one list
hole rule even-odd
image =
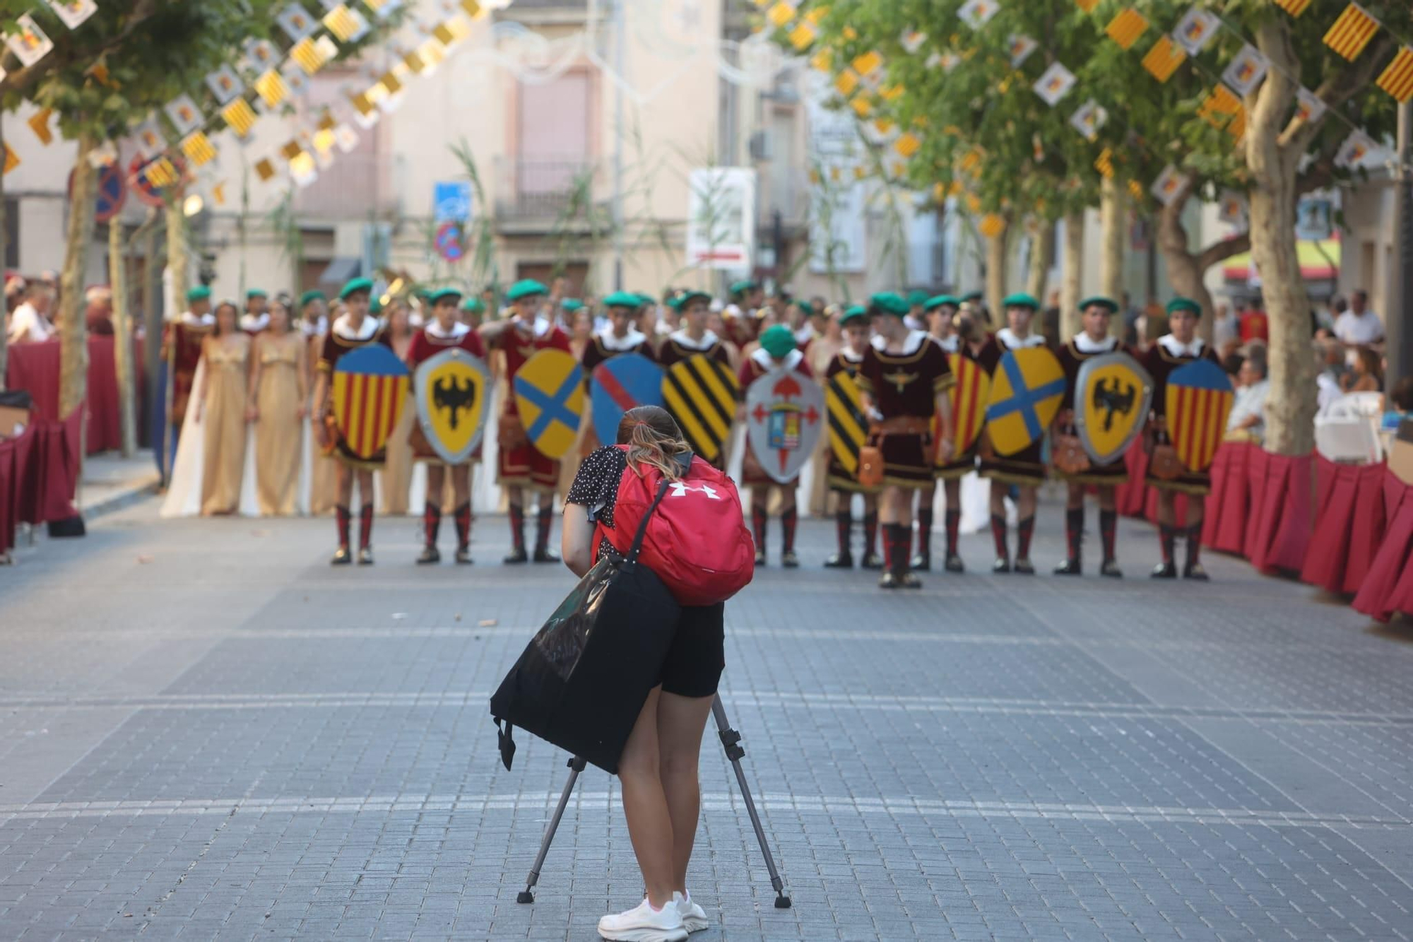
[[746, 390], [746, 436], [773, 481], [793, 481], [824, 433], [824, 390], [793, 369], [774, 369]]

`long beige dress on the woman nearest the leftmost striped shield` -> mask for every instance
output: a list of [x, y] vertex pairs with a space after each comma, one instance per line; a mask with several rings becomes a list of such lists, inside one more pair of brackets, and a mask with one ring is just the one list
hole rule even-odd
[[256, 389], [256, 499], [263, 516], [292, 516], [300, 492], [304, 420], [300, 419], [300, 351], [304, 338], [261, 334]]

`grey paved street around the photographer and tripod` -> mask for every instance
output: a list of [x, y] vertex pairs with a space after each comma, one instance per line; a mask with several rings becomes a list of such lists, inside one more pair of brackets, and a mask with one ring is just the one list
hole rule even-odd
[[[972, 571], [882, 594], [770, 567], [728, 605], [722, 697], [790, 909], [714, 737], [694, 939], [1405, 939], [1413, 631], [1212, 557], [1211, 586]], [[1091, 529], [1094, 528], [1091, 511]], [[572, 583], [332, 570], [326, 521], [147, 501], [0, 569], [0, 938], [593, 939], [642, 884], [588, 769], [520, 905], [565, 755], [502, 768], [487, 697]], [[771, 556], [777, 552], [777, 533]], [[1094, 540], [1096, 543], [1096, 539]], [[1096, 560], [1088, 560], [1091, 571]]]

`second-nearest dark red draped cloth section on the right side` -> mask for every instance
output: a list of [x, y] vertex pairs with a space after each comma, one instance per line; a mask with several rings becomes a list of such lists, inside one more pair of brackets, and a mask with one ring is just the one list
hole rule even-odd
[[1356, 593], [1383, 540], [1382, 464], [1335, 464], [1316, 455], [1316, 523], [1300, 578], [1331, 593]]

